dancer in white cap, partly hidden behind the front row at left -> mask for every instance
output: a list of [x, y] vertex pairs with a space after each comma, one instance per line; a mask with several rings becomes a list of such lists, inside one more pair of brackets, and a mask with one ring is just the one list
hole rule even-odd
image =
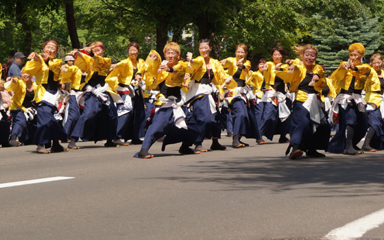
[[[62, 125], [64, 126], [67, 135], [71, 136], [73, 128], [75, 128], [75, 125], [80, 118], [78, 99], [80, 99], [80, 95], [83, 93], [80, 91], [82, 89], [80, 86], [82, 81], [82, 71], [74, 65], [75, 58], [73, 58], [73, 56], [65, 56], [64, 62], [65, 64], [62, 65], [61, 68], [60, 79], [62, 84], [71, 84], [71, 90], [69, 92], [69, 100], [65, 108]], [[77, 149], [76, 146], [75, 149]]]

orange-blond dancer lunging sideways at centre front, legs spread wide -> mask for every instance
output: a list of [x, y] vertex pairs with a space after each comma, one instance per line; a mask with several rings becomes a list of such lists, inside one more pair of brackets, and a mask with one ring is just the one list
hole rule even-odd
[[[154, 115], [149, 120], [143, 145], [137, 154], [139, 158], [152, 158], [153, 155], [149, 154], [148, 150], [162, 136], [166, 136], [163, 150], [167, 143], [182, 141], [180, 154], [200, 154], [199, 151], [190, 148], [199, 129], [194, 121], [191, 121], [192, 115], [183, 106], [187, 89], [182, 89], [182, 84], [187, 62], [180, 61], [180, 46], [177, 43], [171, 42], [165, 45], [163, 53], [167, 64], [161, 64], [153, 69], [157, 75], [152, 88], [159, 91], [156, 96], [158, 101]], [[155, 62], [159, 62], [160, 57], [156, 52], [152, 51], [151, 55]]]

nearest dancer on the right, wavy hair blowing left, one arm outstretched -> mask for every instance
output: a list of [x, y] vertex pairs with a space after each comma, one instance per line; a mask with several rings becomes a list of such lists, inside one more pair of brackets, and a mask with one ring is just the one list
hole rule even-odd
[[293, 160], [302, 156], [303, 152], [311, 157], [324, 157], [317, 149], [326, 150], [331, 136], [331, 126], [320, 98], [326, 86], [325, 73], [322, 66], [315, 64], [315, 47], [307, 44], [293, 49], [302, 63], [291, 65], [289, 71], [276, 73], [276, 76], [290, 83], [289, 91], [295, 93], [289, 128], [291, 139], [286, 154], [292, 148], [289, 158]]

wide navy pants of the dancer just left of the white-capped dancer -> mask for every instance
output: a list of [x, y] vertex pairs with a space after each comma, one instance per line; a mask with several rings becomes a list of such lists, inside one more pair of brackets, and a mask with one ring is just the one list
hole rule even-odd
[[52, 140], [67, 141], [67, 134], [64, 132], [64, 128], [53, 116], [57, 112], [56, 106], [40, 101], [37, 104], [36, 110], [37, 129], [34, 136], [34, 144], [49, 147]]

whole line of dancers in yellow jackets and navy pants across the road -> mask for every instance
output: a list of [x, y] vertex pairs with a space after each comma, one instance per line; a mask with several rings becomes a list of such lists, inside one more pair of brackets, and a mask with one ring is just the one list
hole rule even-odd
[[244, 139], [263, 145], [264, 137], [279, 135], [278, 143], [289, 143], [291, 159], [304, 152], [324, 157], [319, 149], [348, 155], [383, 149], [381, 54], [364, 64], [365, 48], [354, 43], [348, 61], [326, 77], [309, 44], [293, 46], [296, 59], [274, 47], [272, 61], [259, 60], [257, 71], [251, 71], [243, 43], [221, 61], [210, 57], [208, 39], [198, 47], [200, 56], [183, 58], [171, 42], [164, 59], [152, 50], [143, 60], [132, 42], [128, 58], [112, 62], [98, 41], [73, 49], [63, 64], [58, 44], [48, 40], [43, 53], [29, 54], [21, 75], [2, 81], [12, 104], [7, 108], [0, 99], [0, 144], [35, 144], [37, 153], [48, 154], [79, 149], [80, 139], [106, 140], [106, 147], [141, 144], [135, 156], [152, 158], [149, 149], [159, 140], [163, 151], [179, 143], [180, 154], [207, 152], [206, 139], [211, 150], [225, 150], [219, 139], [226, 130], [234, 148], [248, 146]]

